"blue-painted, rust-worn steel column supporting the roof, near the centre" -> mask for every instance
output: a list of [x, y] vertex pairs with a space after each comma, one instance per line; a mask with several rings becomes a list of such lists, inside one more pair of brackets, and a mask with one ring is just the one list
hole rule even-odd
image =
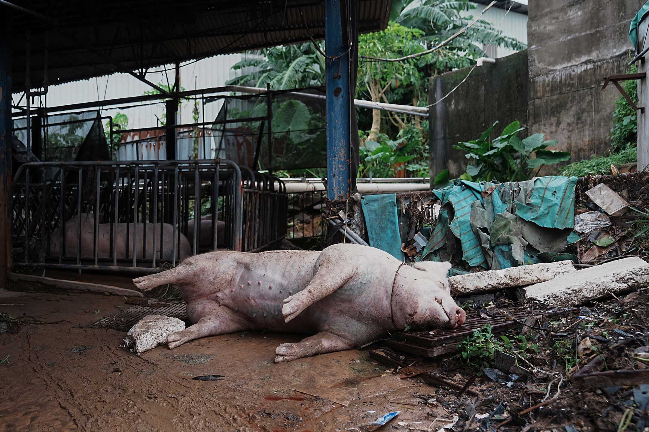
[[[327, 0], [324, 5], [326, 54], [339, 56], [349, 49], [343, 39], [349, 11], [343, 17], [340, 0]], [[349, 52], [325, 62], [327, 194], [329, 199], [346, 199], [350, 191], [350, 101], [354, 96], [350, 95]]]

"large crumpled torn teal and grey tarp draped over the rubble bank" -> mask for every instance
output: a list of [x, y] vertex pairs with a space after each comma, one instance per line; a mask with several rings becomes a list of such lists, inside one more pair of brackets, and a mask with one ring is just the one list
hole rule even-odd
[[469, 266], [501, 269], [542, 262], [544, 254], [560, 253], [578, 240], [571, 229], [576, 181], [557, 176], [500, 184], [459, 181], [435, 190], [441, 211], [420, 259], [438, 260], [445, 245], [454, 249], [448, 224]]

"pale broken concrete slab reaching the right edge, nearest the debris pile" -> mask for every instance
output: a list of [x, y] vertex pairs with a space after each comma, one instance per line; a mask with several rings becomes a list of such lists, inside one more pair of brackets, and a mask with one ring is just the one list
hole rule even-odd
[[579, 306], [644, 284], [649, 284], [649, 264], [631, 256], [530, 285], [525, 291], [528, 299], [563, 307]]

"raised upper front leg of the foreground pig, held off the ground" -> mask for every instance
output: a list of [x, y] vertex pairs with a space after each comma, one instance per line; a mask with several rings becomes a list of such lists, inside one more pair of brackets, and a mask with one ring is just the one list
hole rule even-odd
[[284, 306], [282, 306], [284, 322], [288, 323], [313, 303], [334, 293], [352, 279], [355, 271], [355, 267], [345, 266], [339, 262], [334, 263], [331, 259], [321, 260], [315, 276], [306, 288], [284, 299]]

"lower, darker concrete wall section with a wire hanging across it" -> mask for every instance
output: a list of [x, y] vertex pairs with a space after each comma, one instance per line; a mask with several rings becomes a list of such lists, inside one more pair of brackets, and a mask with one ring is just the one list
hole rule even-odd
[[[430, 102], [440, 100], [467, 77], [471, 68], [430, 79]], [[458, 141], [478, 139], [496, 120], [498, 136], [510, 122], [527, 126], [528, 57], [522, 51], [496, 60], [495, 65], [476, 67], [471, 76], [431, 109], [430, 157], [434, 178], [448, 167], [451, 177], [467, 165], [464, 153], [452, 148]], [[496, 135], [496, 133], [498, 135]], [[526, 136], [521, 133], [520, 137]]]

